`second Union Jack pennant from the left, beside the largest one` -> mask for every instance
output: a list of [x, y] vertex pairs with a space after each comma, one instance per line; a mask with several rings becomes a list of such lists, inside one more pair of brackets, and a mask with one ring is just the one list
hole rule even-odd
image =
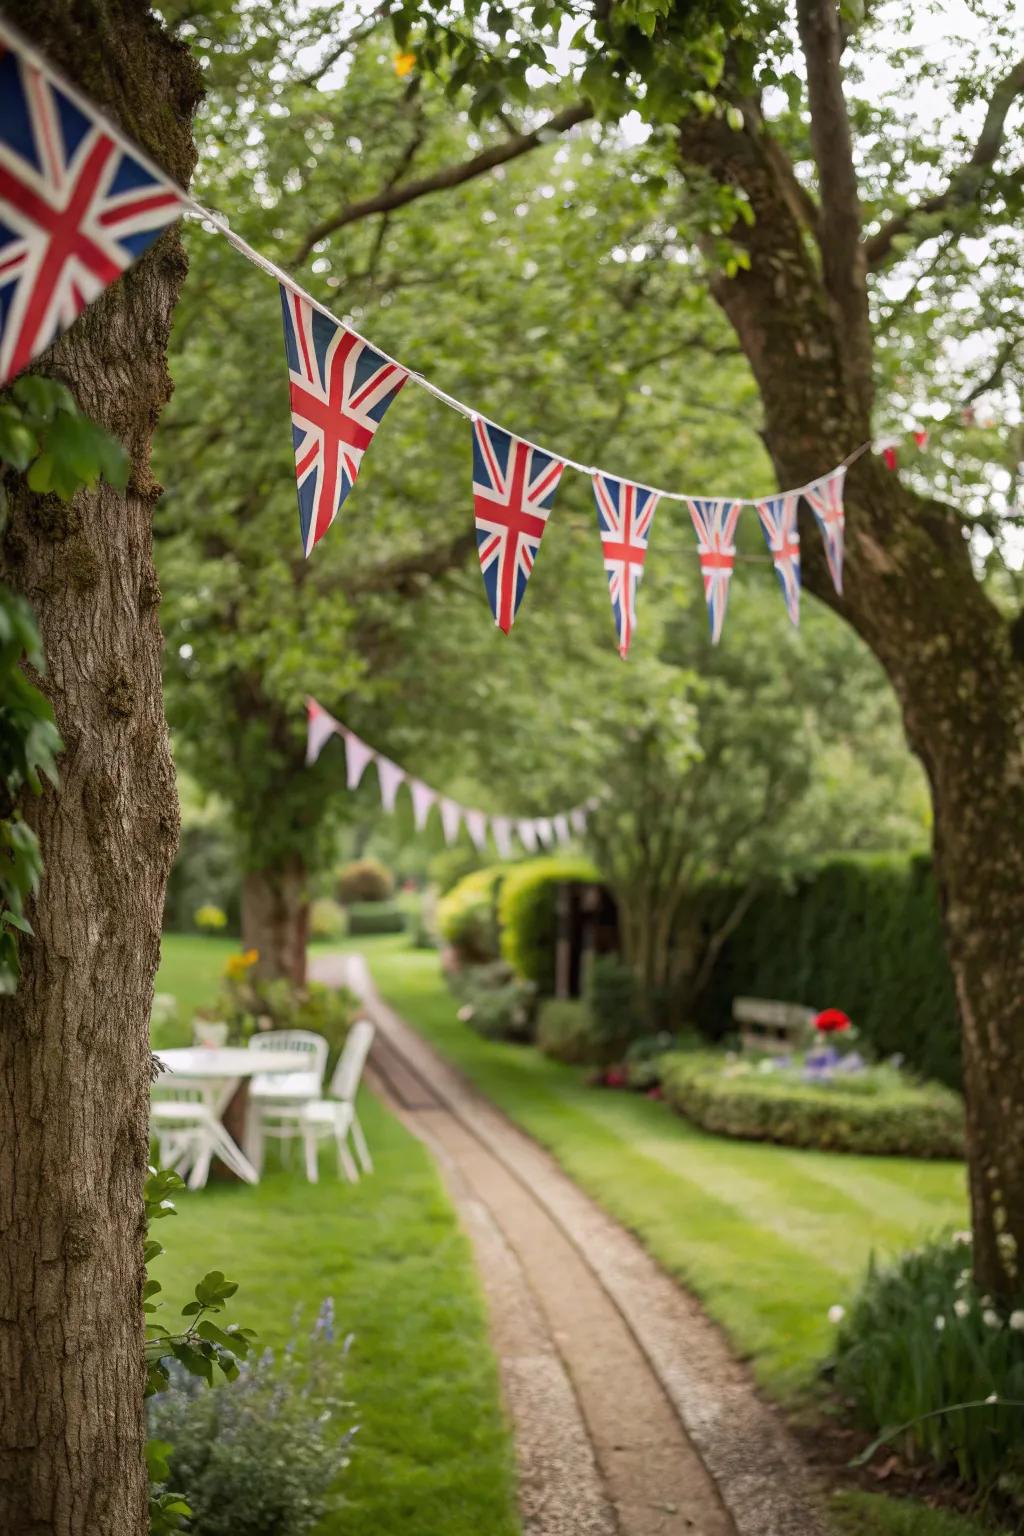
[[299, 527], [309, 554], [338, 516], [408, 373], [284, 286], [281, 309]]

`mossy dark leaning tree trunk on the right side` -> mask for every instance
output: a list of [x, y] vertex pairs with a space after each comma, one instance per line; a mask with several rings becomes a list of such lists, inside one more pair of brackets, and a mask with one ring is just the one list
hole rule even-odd
[[[749, 270], [715, 278], [712, 292], [757, 376], [780, 484], [804, 484], [870, 436], [870, 349], [847, 344], [855, 306], [843, 318], [826, 295], [800, 203], [755, 118], [742, 134], [688, 121], [682, 152], [754, 207], [752, 227], [732, 232]], [[975, 1275], [1010, 1298], [1024, 1263], [1024, 670], [952, 508], [861, 458], [847, 476], [841, 599], [803, 518], [804, 582], [878, 656], [929, 776], [963, 1018]]]

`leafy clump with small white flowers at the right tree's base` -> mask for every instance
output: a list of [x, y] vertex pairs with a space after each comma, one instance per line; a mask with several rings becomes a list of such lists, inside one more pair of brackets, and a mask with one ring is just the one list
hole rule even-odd
[[[978, 1296], [969, 1233], [872, 1263], [843, 1319], [835, 1382], [872, 1432], [918, 1422], [894, 1442], [906, 1459], [927, 1459], [966, 1484], [1003, 1482], [1024, 1496], [1024, 1410], [987, 1405], [1024, 1401], [1024, 1295], [1003, 1310]], [[953, 1413], [960, 1402], [984, 1407]], [[921, 1419], [921, 1415], [935, 1418]]]

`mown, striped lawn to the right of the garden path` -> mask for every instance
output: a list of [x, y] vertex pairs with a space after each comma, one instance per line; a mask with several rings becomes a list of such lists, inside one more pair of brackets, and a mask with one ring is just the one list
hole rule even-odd
[[691, 1287], [775, 1396], [827, 1355], [827, 1310], [869, 1255], [966, 1224], [958, 1163], [803, 1152], [706, 1135], [666, 1104], [586, 1087], [537, 1051], [456, 1018], [431, 952], [362, 943], [381, 991]]

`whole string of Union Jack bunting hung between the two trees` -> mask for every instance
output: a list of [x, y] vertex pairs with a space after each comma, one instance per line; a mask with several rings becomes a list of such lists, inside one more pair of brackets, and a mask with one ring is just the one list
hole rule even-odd
[[[622, 479], [514, 436], [333, 315], [289, 272], [235, 233], [221, 214], [177, 186], [31, 43], [6, 22], [0, 23], [0, 387], [181, 214], [220, 233], [278, 283], [299, 528], [307, 556], [348, 498], [385, 412], [411, 382], [471, 424], [477, 553], [494, 622], [505, 633], [522, 602], [567, 468], [585, 475], [593, 485], [623, 657], [636, 631], [637, 590], [660, 501], [680, 502], [689, 510], [712, 641], [722, 634], [734, 565], [749, 558], [735, 547], [738, 516], [746, 507], [758, 513], [794, 624], [798, 622], [800, 498], [818, 521], [832, 581], [841, 591], [843, 481], [869, 442], [806, 485], [752, 499], [709, 498]], [[780, 511], [772, 510], [777, 505]], [[479, 833], [476, 822], [473, 829]]]

